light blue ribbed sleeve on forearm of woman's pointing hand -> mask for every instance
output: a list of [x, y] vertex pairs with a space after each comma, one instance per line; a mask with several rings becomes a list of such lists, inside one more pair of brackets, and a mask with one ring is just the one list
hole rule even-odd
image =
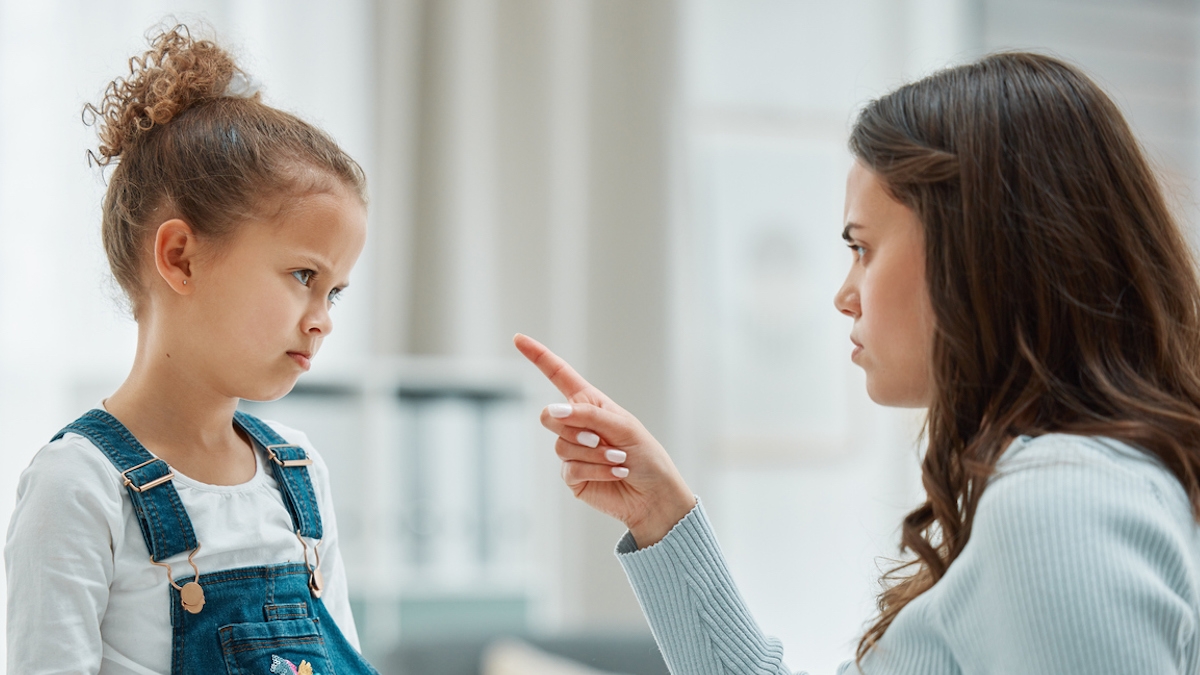
[[791, 675], [782, 645], [743, 602], [700, 503], [653, 546], [637, 550], [626, 533], [617, 556], [671, 673]]

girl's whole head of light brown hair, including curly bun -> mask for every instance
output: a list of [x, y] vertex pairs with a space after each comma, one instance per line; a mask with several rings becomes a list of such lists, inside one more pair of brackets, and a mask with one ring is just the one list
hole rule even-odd
[[89, 161], [114, 166], [102, 239], [134, 318], [143, 310], [145, 238], [181, 219], [218, 241], [288, 197], [348, 189], [366, 203], [362, 168], [311, 124], [262, 102], [246, 73], [186, 25], [161, 29], [130, 59], [130, 73], [84, 106], [100, 145]]

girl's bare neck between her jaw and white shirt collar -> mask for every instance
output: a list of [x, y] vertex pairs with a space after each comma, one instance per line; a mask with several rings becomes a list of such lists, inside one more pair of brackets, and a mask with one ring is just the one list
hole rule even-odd
[[133, 368], [104, 407], [156, 456], [214, 485], [253, 478], [253, 446], [233, 424], [238, 399], [196, 377], [182, 354], [138, 340]]

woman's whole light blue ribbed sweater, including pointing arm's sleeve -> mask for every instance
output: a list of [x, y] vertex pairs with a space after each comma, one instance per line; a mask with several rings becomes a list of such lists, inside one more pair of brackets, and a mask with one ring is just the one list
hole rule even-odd
[[[971, 539], [864, 658], [866, 675], [1200, 673], [1200, 527], [1178, 480], [1123, 443], [1021, 437]], [[617, 546], [674, 675], [790, 674], [701, 506]], [[857, 674], [853, 662], [838, 673]]]

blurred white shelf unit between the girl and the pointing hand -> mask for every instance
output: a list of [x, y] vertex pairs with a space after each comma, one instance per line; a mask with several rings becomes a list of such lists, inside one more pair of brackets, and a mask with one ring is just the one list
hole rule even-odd
[[[304, 430], [329, 465], [364, 652], [398, 637], [523, 633], [546, 590], [532, 545], [527, 369], [376, 359], [313, 372], [248, 412]], [[547, 476], [550, 476], [547, 473]]]

